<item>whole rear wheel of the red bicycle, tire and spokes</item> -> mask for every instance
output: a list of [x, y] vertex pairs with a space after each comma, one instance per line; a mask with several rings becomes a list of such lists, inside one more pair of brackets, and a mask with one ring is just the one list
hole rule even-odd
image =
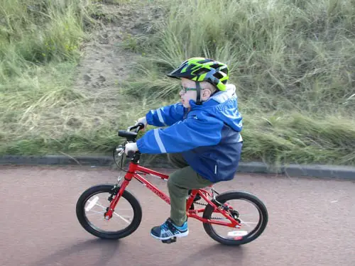
[[[253, 194], [239, 191], [225, 192], [216, 196], [216, 200], [221, 204], [228, 203], [233, 208], [230, 215], [239, 219], [241, 228], [203, 223], [204, 231], [212, 239], [223, 245], [243, 245], [258, 238], [265, 230], [268, 223], [268, 211], [263, 202]], [[240, 203], [235, 204], [232, 201]], [[247, 204], [246, 208], [245, 204]], [[222, 214], [214, 212], [210, 204], [204, 209], [203, 218], [229, 221]]]

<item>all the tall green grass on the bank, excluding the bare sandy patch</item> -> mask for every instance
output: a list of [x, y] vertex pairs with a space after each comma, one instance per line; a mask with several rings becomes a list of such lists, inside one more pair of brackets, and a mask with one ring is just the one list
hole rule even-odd
[[165, 73], [206, 56], [230, 67], [242, 160], [355, 165], [354, 0], [151, 2], [166, 16], [146, 36], [125, 33], [122, 48], [143, 56], [104, 109], [72, 85], [108, 1], [0, 0], [0, 154], [107, 153], [118, 128], [178, 99]]

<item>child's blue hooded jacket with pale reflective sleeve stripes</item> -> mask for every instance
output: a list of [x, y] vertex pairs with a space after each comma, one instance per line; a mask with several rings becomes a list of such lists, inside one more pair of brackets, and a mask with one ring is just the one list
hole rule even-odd
[[211, 182], [231, 180], [241, 156], [242, 118], [238, 111], [236, 87], [217, 92], [202, 105], [190, 101], [163, 106], [146, 114], [155, 128], [137, 140], [141, 153], [182, 153], [193, 170]]

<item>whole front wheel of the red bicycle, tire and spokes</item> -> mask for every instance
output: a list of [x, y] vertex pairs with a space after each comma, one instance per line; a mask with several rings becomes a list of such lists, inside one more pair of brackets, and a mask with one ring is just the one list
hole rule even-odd
[[127, 190], [119, 199], [112, 218], [108, 221], [104, 218], [113, 188], [114, 184], [90, 187], [77, 200], [77, 219], [87, 232], [98, 238], [124, 238], [136, 231], [141, 223], [141, 205]]

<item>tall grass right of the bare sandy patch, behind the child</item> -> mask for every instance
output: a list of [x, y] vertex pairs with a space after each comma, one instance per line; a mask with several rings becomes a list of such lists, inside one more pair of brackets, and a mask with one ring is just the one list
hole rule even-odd
[[355, 165], [354, 4], [178, 1], [129, 92], [173, 101], [177, 87], [164, 74], [188, 57], [212, 57], [237, 87], [243, 160]]

